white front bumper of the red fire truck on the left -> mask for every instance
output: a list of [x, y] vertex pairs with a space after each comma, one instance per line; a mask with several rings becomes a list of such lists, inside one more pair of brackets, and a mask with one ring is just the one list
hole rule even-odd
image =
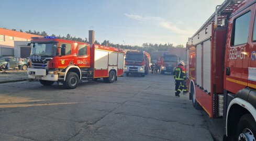
[[28, 78], [48, 81], [58, 81], [58, 75], [47, 74], [46, 69], [28, 68]]

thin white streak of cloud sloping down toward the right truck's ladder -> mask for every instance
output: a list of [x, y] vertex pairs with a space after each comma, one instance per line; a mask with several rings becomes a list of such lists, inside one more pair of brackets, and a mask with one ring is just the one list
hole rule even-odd
[[174, 23], [172, 23], [168, 20], [165, 20], [162, 17], [140, 16], [140, 15], [136, 15], [136, 14], [125, 14], [125, 16], [127, 16], [131, 19], [141, 21], [141, 22], [154, 23], [154, 25], [161, 26], [161, 27], [168, 29], [177, 34], [191, 35], [194, 33], [194, 31], [192, 31], [191, 29], [184, 30], [184, 28], [183, 29], [178, 28], [177, 26], [174, 25]]

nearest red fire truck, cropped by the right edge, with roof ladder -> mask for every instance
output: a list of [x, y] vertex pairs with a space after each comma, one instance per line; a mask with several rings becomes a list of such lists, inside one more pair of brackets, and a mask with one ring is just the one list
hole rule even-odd
[[256, 137], [255, 11], [254, 0], [226, 0], [186, 45], [193, 106], [223, 116], [233, 140]]

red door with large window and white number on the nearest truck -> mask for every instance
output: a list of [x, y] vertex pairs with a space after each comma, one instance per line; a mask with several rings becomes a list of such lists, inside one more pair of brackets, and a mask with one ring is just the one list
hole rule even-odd
[[251, 61], [249, 54], [250, 44], [249, 31], [252, 30], [251, 19], [254, 13], [254, 5], [240, 11], [231, 17], [227, 34], [225, 55], [225, 88], [232, 93], [247, 87], [248, 62]]

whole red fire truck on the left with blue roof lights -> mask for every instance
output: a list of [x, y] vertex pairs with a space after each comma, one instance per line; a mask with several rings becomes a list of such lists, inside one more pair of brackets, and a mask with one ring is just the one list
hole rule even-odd
[[124, 73], [124, 50], [55, 37], [32, 38], [28, 77], [45, 86], [55, 81], [74, 89], [79, 81], [103, 78], [113, 83]]

